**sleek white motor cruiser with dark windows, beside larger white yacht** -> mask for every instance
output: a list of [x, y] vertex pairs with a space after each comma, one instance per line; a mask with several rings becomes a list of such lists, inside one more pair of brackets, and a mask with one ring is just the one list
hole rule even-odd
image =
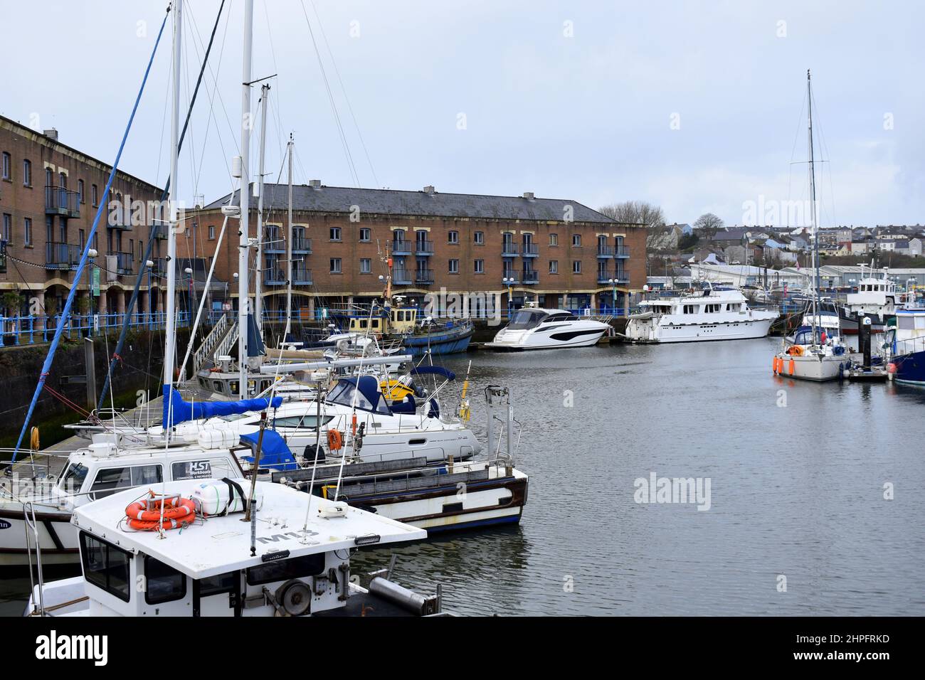
[[511, 323], [499, 330], [485, 347], [512, 351], [590, 347], [610, 328], [603, 322], [562, 309], [524, 307], [514, 312]]

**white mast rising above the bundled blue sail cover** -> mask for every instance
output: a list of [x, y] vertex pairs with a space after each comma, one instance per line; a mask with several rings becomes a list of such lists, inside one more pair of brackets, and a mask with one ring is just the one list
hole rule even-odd
[[166, 300], [166, 326], [164, 330], [164, 397], [170, 398], [170, 388], [173, 384], [173, 372], [176, 354], [176, 307], [177, 307], [177, 229], [179, 228], [179, 204], [177, 193], [177, 170], [179, 159], [179, 88], [180, 65], [183, 37], [183, 0], [174, 3], [174, 35], [173, 35], [173, 101], [170, 111], [170, 195], [167, 203], [170, 212], [167, 225], [167, 300]]

